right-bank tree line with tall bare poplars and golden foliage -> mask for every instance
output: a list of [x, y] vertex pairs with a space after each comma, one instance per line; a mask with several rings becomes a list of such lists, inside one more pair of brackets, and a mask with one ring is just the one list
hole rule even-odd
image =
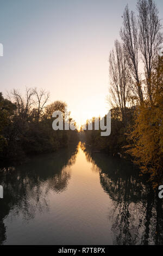
[[124, 9], [121, 40], [109, 55], [111, 135], [85, 134], [99, 150], [130, 156], [156, 187], [163, 167], [163, 34], [153, 0], [138, 0], [136, 10]]

